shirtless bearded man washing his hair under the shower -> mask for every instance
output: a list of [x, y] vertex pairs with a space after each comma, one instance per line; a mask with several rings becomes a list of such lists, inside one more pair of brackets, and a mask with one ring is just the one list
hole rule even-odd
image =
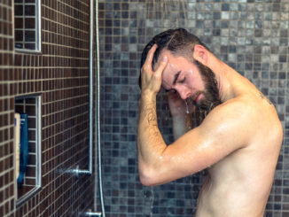
[[[169, 91], [178, 137], [169, 145], [157, 124], [156, 96], [161, 86]], [[198, 127], [186, 132], [184, 100], [210, 111]], [[195, 35], [171, 29], [147, 44], [137, 129], [144, 185], [171, 182], [207, 168], [197, 217], [262, 217], [282, 139], [274, 105]]]

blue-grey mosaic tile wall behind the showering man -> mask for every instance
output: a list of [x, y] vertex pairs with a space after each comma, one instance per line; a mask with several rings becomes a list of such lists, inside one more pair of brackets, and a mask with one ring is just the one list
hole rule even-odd
[[[289, 216], [289, 2], [100, 0], [99, 25], [106, 216], [179, 217], [195, 212], [204, 174], [154, 188], [142, 186], [137, 174], [140, 54], [153, 35], [170, 27], [186, 27], [199, 35], [276, 105], [285, 137], [266, 217]], [[164, 96], [159, 99], [160, 128], [169, 142], [168, 105]]]

